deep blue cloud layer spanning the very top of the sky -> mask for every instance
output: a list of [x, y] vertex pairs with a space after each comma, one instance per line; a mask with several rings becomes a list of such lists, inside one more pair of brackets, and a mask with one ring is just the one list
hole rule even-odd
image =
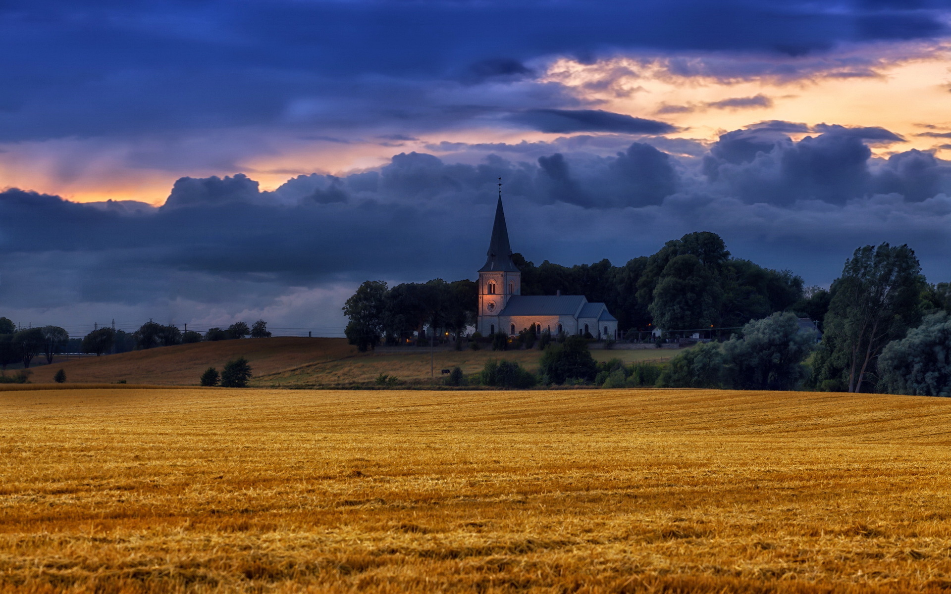
[[[794, 78], [797, 67], [770, 56], [946, 35], [949, 4], [8, 0], [0, 53], [15, 59], [0, 63], [0, 140], [414, 119], [439, 126], [499, 109], [571, 107], [556, 90], [518, 105], [439, 105], [430, 96], [453, 81], [531, 80], [532, 61], [553, 55], [747, 52], [761, 61], [673, 58], [670, 71]], [[861, 57], [829, 64], [836, 75], [875, 66]]]

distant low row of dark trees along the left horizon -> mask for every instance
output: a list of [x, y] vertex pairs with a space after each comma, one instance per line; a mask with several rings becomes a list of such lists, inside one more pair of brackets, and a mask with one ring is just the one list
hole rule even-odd
[[152, 349], [203, 340], [232, 340], [247, 336], [263, 338], [270, 335], [267, 322], [259, 319], [251, 326], [245, 322], [236, 322], [224, 329], [211, 328], [204, 335], [191, 330], [183, 331], [171, 324], [148, 321], [133, 333], [103, 327], [79, 338], [70, 337], [68, 332], [59, 326], [17, 331], [9, 318], [0, 317], [0, 368], [6, 371], [7, 366], [22, 363], [24, 369], [27, 369], [32, 360], [40, 354], [46, 357], [49, 364], [52, 363], [53, 356], [60, 353], [126, 353], [136, 349]]

